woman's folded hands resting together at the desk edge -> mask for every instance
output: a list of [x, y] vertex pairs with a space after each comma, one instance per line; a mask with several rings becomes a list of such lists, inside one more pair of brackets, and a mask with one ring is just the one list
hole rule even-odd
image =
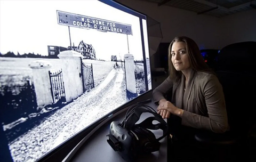
[[[173, 114], [173, 115], [177, 115], [179, 117], [181, 117], [183, 115], [183, 110], [175, 107], [170, 101], [159, 102], [159, 106], [157, 107], [157, 110], [158, 110], [158, 112], [160, 112], [160, 115], [162, 112], [162, 115], [161, 115], [162, 117], [166, 117], [167, 112], [169, 112], [170, 114]], [[169, 116], [170, 116], [170, 114], [169, 114]]]

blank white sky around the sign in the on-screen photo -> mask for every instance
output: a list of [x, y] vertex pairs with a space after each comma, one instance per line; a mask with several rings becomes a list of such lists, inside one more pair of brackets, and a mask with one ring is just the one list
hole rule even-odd
[[[92, 44], [97, 59], [103, 60], [110, 60], [111, 55], [123, 59], [123, 55], [128, 53], [129, 44], [129, 52], [134, 55], [134, 59], [143, 59], [139, 18], [92, 0], [1, 0], [0, 52], [48, 55], [47, 45], [70, 46], [68, 27], [58, 24], [57, 10], [131, 25], [133, 35], [128, 35], [128, 38], [125, 34], [70, 27], [71, 43], [78, 46], [83, 40]], [[145, 29], [145, 25], [143, 28]], [[148, 45], [145, 47], [148, 48]], [[148, 58], [148, 52], [146, 53]]]

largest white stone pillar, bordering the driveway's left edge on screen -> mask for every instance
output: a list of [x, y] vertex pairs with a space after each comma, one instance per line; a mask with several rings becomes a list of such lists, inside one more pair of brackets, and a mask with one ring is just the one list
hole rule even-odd
[[63, 82], [65, 88], [66, 101], [72, 101], [83, 94], [81, 59], [83, 55], [70, 50], [62, 51], [58, 54], [62, 64]]

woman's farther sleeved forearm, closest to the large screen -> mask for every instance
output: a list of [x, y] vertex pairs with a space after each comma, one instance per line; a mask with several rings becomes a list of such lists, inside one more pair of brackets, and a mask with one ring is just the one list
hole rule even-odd
[[156, 104], [159, 104], [159, 102], [167, 101], [164, 98], [164, 95], [171, 90], [173, 87], [173, 82], [171, 81], [170, 77], [167, 77], [164, 82], [155, 88], [153, 91], [153, 100]]

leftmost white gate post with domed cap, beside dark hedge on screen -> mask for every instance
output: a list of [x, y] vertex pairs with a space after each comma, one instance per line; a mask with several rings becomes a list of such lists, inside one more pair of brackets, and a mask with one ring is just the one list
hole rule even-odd
[[49, 76], [51, 64], [44, 60], [36, 60], [31, 62], [29, 67], [32, 69], [33, 73], [37, 106], [51, 104], [53, 102]]

